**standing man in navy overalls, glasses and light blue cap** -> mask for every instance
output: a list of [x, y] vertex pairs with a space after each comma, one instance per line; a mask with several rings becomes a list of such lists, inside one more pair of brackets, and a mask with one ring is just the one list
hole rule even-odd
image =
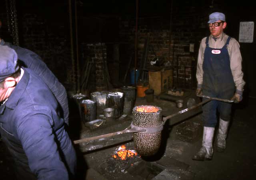
[[[245, 84], [242, 57], [236, 39], [223, 32], [226, 25], [224, 14], [220, 12], [210, 14], [208, 27], [211, 34], [202, 39], [198, 53], [196, 94], [240, 102]], [[194, 155], [194, 160], [212, 159], [212, 141], [214, 127], [217, 124], [216, 111], [218, 111], [220, 119], [216, 149], [218, 152], [223, 152], [226, 149], [231, 106], [231, 103], [211, 100], [202, 107], [204, 121], [202, 147]]]

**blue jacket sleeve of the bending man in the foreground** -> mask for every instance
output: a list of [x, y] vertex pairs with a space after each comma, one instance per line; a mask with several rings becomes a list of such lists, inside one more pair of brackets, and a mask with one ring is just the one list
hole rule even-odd
[[38, 180], [68, 180], [68, 170], [60, 158], [53, 121], [44, 113], [23, 117], [18, 137], [28, 157], [31, 171]]

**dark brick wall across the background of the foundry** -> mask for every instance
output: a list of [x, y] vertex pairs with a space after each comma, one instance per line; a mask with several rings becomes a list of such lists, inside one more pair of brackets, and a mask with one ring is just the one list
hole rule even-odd
[[[249, 5], [246, 8], [229, 7], [214, 1], [212, 7], [212, 3], [212, 1], [197, 1], [196, 4], [186, 0], [175, 1], [171, 10], [171, 1], [140, 1], [137, 65], [140, 65], [144, 41], [149, 34], [148, 60], [154, 59], [156, 55], [161, 62], [169, 63], [174, 69], [174, 86], [194, 88], [199, 43], [202, 37], [208, 35], [206, 26], [208, 14], [214, 11], [224, 12], [229, 25], [226, 32], [236, 39], [239, 35], [239, 22], [256, 19], [253, 7]], [[72, 30], [78, 32], [78, 53], [74, 51], [73, 62], [77, 61], [77, 54], [80, 66], [72, 67], [68, 1], [17, 1], [20, 46], [38, 53], [69, 91], [73, 90], [74, 84], [77, 83], [77, 69], [81, 71], [86, 61], [86, 58], [83, 58], [87, 56], [86, 45], [104, 43], [110, 76], [118, 76], [111, 79], [122, 80], [126, 70], [134, 67], [134, 61], [130, 67], [128, 62], [134, 57], [135, 7], [135, 2], [77, 1], [77, 29], [73, 21]], [[237, 13], [242, 10], [245, 11]], [[73, 14], [73, 20], [74, 17]], [[0, 8], [0, 19], [3, 22], [2, 31], [5, 31], [7, 29], [5, 6]], [[7, 36], [5, 35], [4, 39], [8, 39]], [[75, 39], [75, 36], [73, 38]], [[191, 43], [194, 44], [194, 53], [189, 52]], [[113, 50], [116, 45], [119, 48], [119, 60], [116, 59]], [[247, 60], [243, 63], [246, 81], [250, 82], [248, 92], [254, 92], [255, 83], [250, 75], [254, 71], [250, 65], [254, 64], [251, 53], [255, 43], [240, 45], [243, 58]], [[115, 63], [119, 63], [118, 68]], [[114, 70], [118, 70], [118, 73], [113, 73]], [[129, 74], [126, 81], [129, 82]]]

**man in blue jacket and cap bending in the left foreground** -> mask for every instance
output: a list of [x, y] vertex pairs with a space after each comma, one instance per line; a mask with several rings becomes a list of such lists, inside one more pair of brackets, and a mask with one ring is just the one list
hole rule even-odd
[[0, 46], [0, 133], [21, 180], [68, 180], [74, 177], [76, 154], [58, 102], [16, 52]]

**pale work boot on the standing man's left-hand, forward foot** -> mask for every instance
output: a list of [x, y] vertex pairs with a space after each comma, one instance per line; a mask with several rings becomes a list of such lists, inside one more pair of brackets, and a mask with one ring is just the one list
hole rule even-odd
[[204, 127], [202, 147], [194, 155], [193, 160], [211, 160], [213, 154], [212, 141], [214, 136], [214, 127]]

